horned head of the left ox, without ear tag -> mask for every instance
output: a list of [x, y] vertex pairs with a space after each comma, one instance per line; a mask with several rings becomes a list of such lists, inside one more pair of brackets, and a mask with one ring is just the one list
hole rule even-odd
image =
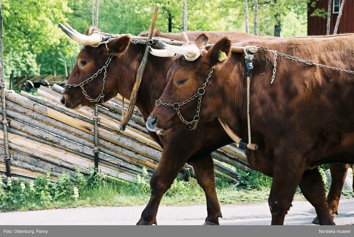
[[[110, 56], [113, 55], [112, 61], [114, 61], [116, 57], [124, 53], [130, 43], [130, 36], [124, 35], [117, 38], [110, 38], [108, 43], [98, 45], [102, 41], [103, 36], [101, 36], [100, 31], [95, 27], [88, 28], [85, 35], [76, 32], [68, 25], [66, 27], [59, 24], [59, 27], [61, 27], [70, 38], [84, 45], [70, 73], [67, 81], [69, 85], [80, 85], [80, 83], [84, 83], [88, 78], [95, 75], [95, 73], [104, 67]], [[118, 93], [114, 80], [116, 75], [112, 73], [114, 70], [112, 67], [113, 66], [108, 66], [106, 68], [106, 85], [103, 93], [104, 101], [108, 101]], [[87, 96], [92, 99], [99, 97], [102, 93], [104, 74], [104, 70], [102, 70], [92, 81], [85, 83], [85, 85], [82, 86], [84, 90], [82, 90], [80, 86], [66, 87], [60, 100], [61, 103], [68, 108], [78, 109], [81, 106], [92, 106], [97, 102], [101, 102], [101, 100], [97, 102], [88, 100], [83, 91], [86, 91]]]

